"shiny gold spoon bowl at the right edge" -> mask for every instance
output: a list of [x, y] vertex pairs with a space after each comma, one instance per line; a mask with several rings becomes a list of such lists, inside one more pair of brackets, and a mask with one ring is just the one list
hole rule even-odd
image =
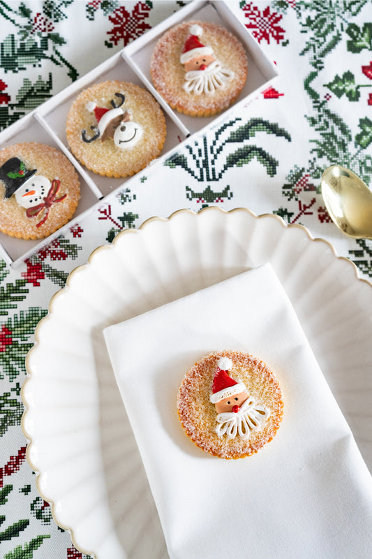
[[322, 176], [322, 196], [332, 221], [346, 235], [372, 239], [372, 191], [351, 170], [332, 165]]

